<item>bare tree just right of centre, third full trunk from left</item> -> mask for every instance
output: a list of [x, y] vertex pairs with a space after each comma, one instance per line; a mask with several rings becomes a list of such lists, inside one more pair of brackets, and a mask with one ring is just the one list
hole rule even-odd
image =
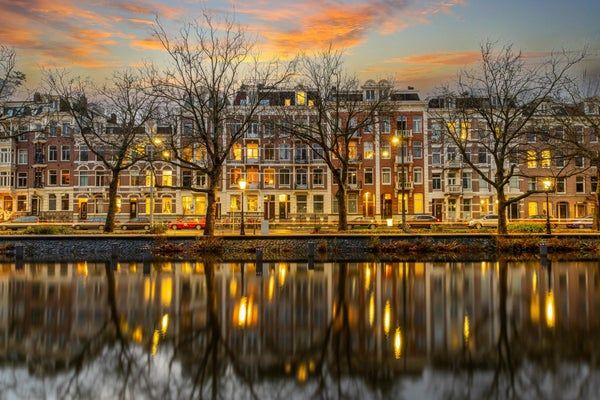
[[[337, 185], [338, 230], [348, 229], [347, 200], [350, 168], [360, 161], [356, 147], [363, 130], [373, 127], [387, 102], [387, 95], [364, 101], [358, 78], [347, 74], [343, 52], [329, 47], [303, 56], [298, 77], [308, 90], [309, 117], [284, 108], [284, 130], [306, 143], [321, 157]], [[384, 93], [390, 87], [384, 88]]]

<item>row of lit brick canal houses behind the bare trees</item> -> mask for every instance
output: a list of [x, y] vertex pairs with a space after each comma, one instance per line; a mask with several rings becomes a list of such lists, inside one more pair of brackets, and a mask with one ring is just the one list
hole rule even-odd
[[[362, 101], [375, 101], [387, 82], [367, 81]], [[241, 92], [243, 93], [243, 92]], [[218, 193], [218, 215], [235, 216], [241, 205], [240, 177], [248, 182], [244, 211], [258, 219], [323, 220], [336, 219], [336, 185], [318, 151], [269, 123], [278, 118], [282, 107], [308, 118], [314, 114], [302, 88], [278, 89], [249, 124], [223, 167]], [[394, 89], [385, 113], [365, 127], [349, 143], [352, 166], [349, 172], [348, 212], [376, 219], [399, 218], [402, 199], [407, 214], [432, 214], [444, 221], [464, 221], [496, 211], [495, 193], [490, 185], [463, 162], [456, 147], [444, 138], [444, 126], [435, 117], [449, 107], [440, 101], [423, 100], [417, 90]], [[244, 107], [244, 96], [230, 106], [233, 112]], [[585, 108], [598, 114], [598, 107]], [[39, 215], [47, 220], [70, 221], [103, 214], [108, 207], [108, 171], [83, 142], [75, 121], [59, 99], [36, 94], [32, 101], [8, 102], [0, 118], [10, 137], [0, 139], [0, 218]], [[552, 125], [552, 121], [550, 121]], [[108, 118], [105, 129], [115, 126]], [[275, 125], [276, 126], [276, 125]], [[476, 127], [472, 121], [470, 127]], [[182, 119], [177, 126], [148, 124], [148, 137], [154, 138], [157, 161], [137, 163], [124, 172], [119, 183], [118, 217], [127, 219], [154, 214], [157, 220], [204, 214], [206, 196], [191, 190], [206, 185], [204, 176], [173, 165], [169, 154], [156, 143], [170, 135], [185, 136], [191, 129]], [[470, 130], [471, 128], [469, 128]], [[594, 132], [581, 127], [584, 140], [598, 146]], [[475, 130], [474, 130], [475, 132]], [[394, 142], [401, 136], [400, 145]], [[536, 132], [529, 135], [536, 141]], [[472, 141], [472, 159], [481, 170], [493, 176], [493, 158]], [[533, 175], [552, 175], [555, 168], [546, 163], [543, 141], [540, 157], [522, 170]], [[541, 155], [544, 155], [543, 157]], [[550, 214], [558, 218], [588, 215], [594, 207], [597, 166], [589, 160], [573, 161], [568, 177], [556, 182], [550, 196]], [[155, 176], [155, 178], [154, 178]], [[517, 196], [539, 185], [535, 179], [515, 177], [508, 196]], [[169, 187], [172, 186], [172, 187]], [[175, 188], [177, 187], [177, 188]], [[188, 189], [190, 188], [190, 189]], [[153, 201], [152, 201], [153, 199]], [[532, 195], [511, 206], [509, 218], [527, 218], [546, 212], [543, 194]]]

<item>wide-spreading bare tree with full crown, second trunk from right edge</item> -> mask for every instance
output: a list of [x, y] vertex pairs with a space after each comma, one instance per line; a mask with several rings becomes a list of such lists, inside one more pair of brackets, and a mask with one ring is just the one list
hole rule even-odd
[[[475, 70], [459, 73], [454, 87], [441, 89], [431, 118], [443, 124], [445, 137], [453, 143], [462, 162], [475, 171], [496, 192], [498, 233], [507, 233], [507, 208], [539, 190], [507, 196], [513, 177], [529, 176], [527, 134], [535, 129], [540, 105], [558, 96], [568, 82], [568, 73], [584, 57], [569, 52], [551, 54], [530, 62], [512, 45], [486, 42], [481, 46], [481, 63]], [[471, 125], [473, 124], [473, 126]], [[472, 129], [477, 128], [477, 130]], [[478, 137], [474, 137], [475, 132]], [[470, 153], [473, 145], [491, 154], [490, 175]]]

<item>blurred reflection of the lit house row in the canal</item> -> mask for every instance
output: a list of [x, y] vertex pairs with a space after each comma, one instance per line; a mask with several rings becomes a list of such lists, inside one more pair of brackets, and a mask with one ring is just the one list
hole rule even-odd
[[350, 362], [385, 378], [465, 353], [489, 360], [502, 324], [532, 349], [547, 333], [594, 335], [598, 282], [598, 266], [566, 262], [264, 263], [258, 275], [253, 263], [2, 265], [0, 358], [49, 373], [121, 336], [151, 355], [177, 346], [188, 376], [214, 351], [219, 375], [234, 362], [249, 376], [304, 380]]

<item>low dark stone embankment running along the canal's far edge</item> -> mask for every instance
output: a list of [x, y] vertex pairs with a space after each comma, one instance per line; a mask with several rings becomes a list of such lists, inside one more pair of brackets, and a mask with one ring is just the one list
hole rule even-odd
[[552, 257], [600, 260], [598, 234], [314, 234], [266, 236], [14, 235], [0, 237], [4, 261], [353, 261], [531, 258], [541, 244]]

